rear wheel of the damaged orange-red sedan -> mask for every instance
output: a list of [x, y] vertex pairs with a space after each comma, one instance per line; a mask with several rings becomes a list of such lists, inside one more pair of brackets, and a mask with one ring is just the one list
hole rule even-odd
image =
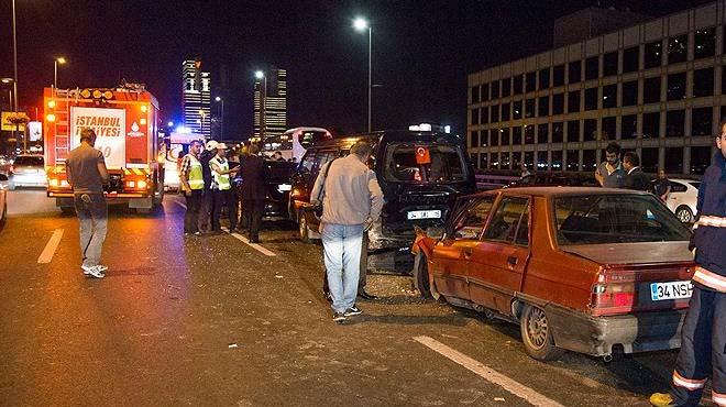
[[551, 361], [562, 354], [562, 350], [554, 346], [552, 327], [549, 324], [543, 309], [535, 306], [525, 306], [519, 318], [519, 331], [525, 351], [538, 361]]

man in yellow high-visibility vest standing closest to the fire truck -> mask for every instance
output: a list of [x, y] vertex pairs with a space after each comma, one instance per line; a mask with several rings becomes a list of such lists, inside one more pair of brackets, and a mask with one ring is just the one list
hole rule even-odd
[[195, 140], [189, 144], [189, 154], [182, 160], [179, 182], [182, 194], [187, 200], [187, 212], [184, 217], [184, 235], [200, 235], [199, 232], [199, 208], [201, 207], [201, 194], [205, 189], [205, 176], [199, 162], [201, 142]]

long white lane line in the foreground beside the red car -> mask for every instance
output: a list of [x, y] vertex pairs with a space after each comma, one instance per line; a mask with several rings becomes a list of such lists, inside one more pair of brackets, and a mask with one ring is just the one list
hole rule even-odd
[[537, 393], [536, 391], [513, 381], [512, 378], [498, 373], [497, 371], [488, 367], [481, 362], [477, 362], [474, 359], [466, 356], [465, 354], [457, 351], [453, 348], [449, 348], [446, 344], [429, 338], [429, 337], [414, 337], [414, 340], [418, 343], [431, 349], [432, 351], [441, 354], [442, 356], [460, 364], [461, 366], [476, 373], [479, 376], [485, 381], [495, 384], [505, 391], [512, 393], [513, 395], [524, 398], [529, 404], [538, 407], [564, 407], [563, 405], [544, 397], [543, 395]]

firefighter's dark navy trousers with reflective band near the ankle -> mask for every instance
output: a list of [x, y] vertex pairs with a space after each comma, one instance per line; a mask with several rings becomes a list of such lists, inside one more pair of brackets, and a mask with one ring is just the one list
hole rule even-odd
[[726, 402], [726, 293], [694, 286], [671, 385], [676, 404], [698, 406], [708, 376], [714, 402]]

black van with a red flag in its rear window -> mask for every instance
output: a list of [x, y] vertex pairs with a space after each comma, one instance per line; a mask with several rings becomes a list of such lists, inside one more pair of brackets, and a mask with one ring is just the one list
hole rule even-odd
[[374, 146], [369, 166], [376, 173], [385, 201], [380, 221], [369, 231], [371, 251], [410, 246], [415, 226], [443, 226], [455, 199], [476, 190], [464, 143], [451, 134], [381, 131], [316, 142], [306, 146], [293, 176], [289, 212], [302, 241], [319, 238], [320, 219], [308, 209], [320, 168], [348, 155], [360, 140]]

